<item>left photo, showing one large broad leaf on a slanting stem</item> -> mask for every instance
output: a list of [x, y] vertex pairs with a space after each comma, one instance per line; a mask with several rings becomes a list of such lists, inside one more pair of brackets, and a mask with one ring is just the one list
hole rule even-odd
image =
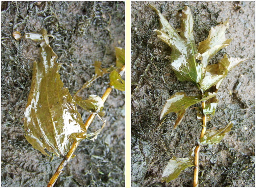
[[126, 187], [126, 1], [1, 1], [1, 26], [1, 187]]

